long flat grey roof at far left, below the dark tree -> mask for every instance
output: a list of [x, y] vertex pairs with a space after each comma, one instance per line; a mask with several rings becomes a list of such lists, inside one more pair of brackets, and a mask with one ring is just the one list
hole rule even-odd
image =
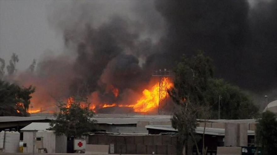
[[52, 120], [55, 119], [53, 116], [30, 116], [30, 117], [20, 117], [20, 116], [1, 116], [0, 122], [9, 121], [36, 121], [36, 120]]

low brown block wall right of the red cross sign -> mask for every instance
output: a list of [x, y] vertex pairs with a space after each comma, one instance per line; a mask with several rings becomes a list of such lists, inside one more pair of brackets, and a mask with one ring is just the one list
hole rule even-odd
[[176, 136], [90, 135], [88, 144], [114, 144], [116, 154], [177, 154]]

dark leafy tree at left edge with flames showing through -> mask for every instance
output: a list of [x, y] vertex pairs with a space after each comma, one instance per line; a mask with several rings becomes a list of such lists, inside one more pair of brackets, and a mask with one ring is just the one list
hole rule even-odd
[[33, 86], [20, 87], [0, 80], [0, 116], [28, 116]]

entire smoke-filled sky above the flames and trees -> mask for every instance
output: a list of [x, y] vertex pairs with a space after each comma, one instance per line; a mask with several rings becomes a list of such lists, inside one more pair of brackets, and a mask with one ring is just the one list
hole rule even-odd
[[274, 0], [2, 0], [0, 57], [7, 65], [18, 54], [22, 72], [38, 59], [34, 75], [20, 76], [41, 85], [38, 92], [124, 102], [153, 69], [201, 50], [214, 59], [217, 77], [263, 96], [277, 87], [276, 8]]

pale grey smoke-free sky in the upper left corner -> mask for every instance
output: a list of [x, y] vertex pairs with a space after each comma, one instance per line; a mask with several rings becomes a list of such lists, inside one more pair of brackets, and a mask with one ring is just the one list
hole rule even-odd
[[46, 5], [50, 2], [0, 0], [0, 57], [6, 65], [12, 53], [19, 56], [17, 69], [25, 70], [44, 51], [62, 51], [62, 35], [47, 21]]

